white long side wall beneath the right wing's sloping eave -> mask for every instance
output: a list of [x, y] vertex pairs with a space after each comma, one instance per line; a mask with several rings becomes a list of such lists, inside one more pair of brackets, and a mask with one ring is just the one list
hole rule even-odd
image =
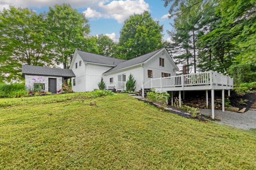
[[[140, 88], [142, 87], [142, 78], [143, 78], [143, 67], [138, 65], [138, 66], [134, 66], [131, 68], [127, 68], [124, 70], [120, 70], [118, 72], [114, 72], [114, 73], [108, 73], [108, 74], [104, 74], [103, 76], [103, 80], [104, 82], [110, 82], [110, 78], [113, 78], [113, 82], [118, 81], [118, 75], [120, 74], [126, 74], [126, 80], [128, 80], [129, 75], [132, 74], [134, 76], [134, 80], [136, 80], [136, 91], [140, 90]], [[124, 89], [125, 90], [125, 89]]]

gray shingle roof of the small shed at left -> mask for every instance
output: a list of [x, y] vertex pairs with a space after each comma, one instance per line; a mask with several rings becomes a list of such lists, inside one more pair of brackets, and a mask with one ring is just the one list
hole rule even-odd
[[49, 68], [42, 66], [22, 65], [22, 75], [44, 75], [44, 76], [58, 76], [58, 77], [76, 77], [74, 72], [70, 69], [63, 68]]

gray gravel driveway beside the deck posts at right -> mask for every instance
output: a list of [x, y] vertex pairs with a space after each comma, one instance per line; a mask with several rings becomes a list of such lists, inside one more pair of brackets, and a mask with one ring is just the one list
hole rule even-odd
[[[203, 115], [212, 115], [211, 109], [198, 109]], [[248, 110], [244, 113], [236, 113], [233, 111], [214, 110], [215, 117], [219, 117], [218, 123], [237, 127], [239, 129], [256, 129], [256, 111]]]

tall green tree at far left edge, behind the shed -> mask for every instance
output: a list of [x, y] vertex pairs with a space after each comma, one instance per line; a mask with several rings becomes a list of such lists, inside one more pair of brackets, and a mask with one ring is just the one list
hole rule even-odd
[[21, 64], [49, 66], [43, 15], [28, 8], [0, 12], [0, 72], [7, 82], [21, 78]]

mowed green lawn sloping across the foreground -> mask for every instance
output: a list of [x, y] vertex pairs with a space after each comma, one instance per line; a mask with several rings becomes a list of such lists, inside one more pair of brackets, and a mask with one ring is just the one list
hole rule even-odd
[[0, 169], [256, 169], [253, 131], [88, 96], [1, 99]]

